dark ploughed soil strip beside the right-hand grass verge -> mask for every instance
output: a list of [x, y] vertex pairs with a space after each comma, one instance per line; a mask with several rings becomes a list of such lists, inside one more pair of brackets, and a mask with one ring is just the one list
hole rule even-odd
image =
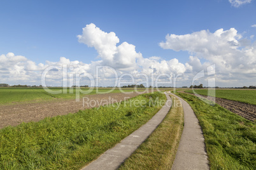
[[[185, 91], [178, 91], [180, 93], [187, 93]], [[187, 93], [189, 95], [194, 95], [192, 93]], [[204, 95], [201, 95], [204, 96]], [[207, 97], [207, 96], [204, 96]], [[227, 100], [224, 98], [214, 98], [209, 96], [208, 100], [214, 101], [220, 105], [221, 107], [226, 108], [227, 110], [230, 110], [231, 112], [240, 115], [241, 117], [244, 117], [245, 119], [248, 119], [250, 121], [256, 120], [256, 105], [250, 105], [247, 103], [241, 103], [239, 101], [233, 101], [233, 100]]]

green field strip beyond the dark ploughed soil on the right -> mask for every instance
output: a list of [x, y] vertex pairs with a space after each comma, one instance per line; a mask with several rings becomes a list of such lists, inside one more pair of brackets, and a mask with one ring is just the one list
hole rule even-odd
[[[195, 89], [199, 95], [208, 95], [208, 89]], [[186, 91], [193, 93], [192, 90]], [[227, 100], [240, 101], [251, 105], [256, 105], [256, 90], [234, 90], [234, 89], [216, 89], [216, 95], [210, 89], [210, 96], [216, 96], [217, 98], [224, 98]]]

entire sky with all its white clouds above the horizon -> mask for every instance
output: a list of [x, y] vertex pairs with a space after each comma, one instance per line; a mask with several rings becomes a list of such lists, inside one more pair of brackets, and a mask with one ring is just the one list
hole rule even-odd
[[255, 0], [0, 6], [0, 83], [256, 85]]

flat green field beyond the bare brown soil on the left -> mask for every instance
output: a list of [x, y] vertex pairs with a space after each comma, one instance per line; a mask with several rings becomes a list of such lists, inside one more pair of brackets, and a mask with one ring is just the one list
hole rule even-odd
[[[65, 93], [62, 88], [50, 88], [52, 91], [60, 91], [60, 94], [47, 93], [43, 88], [0, 88], [0, 105], [10, 105], [20, 102], [39, 102], [55, 99], [74, 99], [76, 98], [76, 89], [67, 89]], [[110, 88], [99, 88], [100, 93], [108, 93]], [[134, 91], [134, 89], [122, 89], [125, 92]], [[145, 89], [138, 89], [144, 91]], [[80, 98], [89, 92], [89, 88], [82, 88]], [[111, 93], [120, 93], [119, 89], [114, 89]], [[96, 89], [90, 91], [88, 95], [96, 94]]]

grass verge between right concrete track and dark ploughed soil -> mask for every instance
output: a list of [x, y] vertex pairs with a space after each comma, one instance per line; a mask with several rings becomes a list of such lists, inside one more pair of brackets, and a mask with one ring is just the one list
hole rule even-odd
[[203, 128], [211, 169], [256, 169], [256, 124], [196, 96], [176, 93], [194, 110]]

